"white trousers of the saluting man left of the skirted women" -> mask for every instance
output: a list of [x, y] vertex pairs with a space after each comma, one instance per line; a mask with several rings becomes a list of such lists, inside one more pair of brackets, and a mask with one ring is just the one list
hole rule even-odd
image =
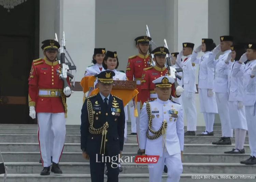
[[188, 91], [184, 90], [182, 93], [182, 107], [187, 118], [187, 131], [197, 130], [197, 110], [195, 103], [195, 93], [192, 98], [187, 97]]

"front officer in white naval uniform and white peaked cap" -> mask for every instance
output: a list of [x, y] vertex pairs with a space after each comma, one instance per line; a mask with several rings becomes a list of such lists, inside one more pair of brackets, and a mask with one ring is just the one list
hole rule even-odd
[[141, 154], [160, 156], [155, 164], [148, 164], [149, 181], [162, 181], [164, 164], [168, 167], [167, 182], [179, 182], [182, 174], [184, 123], [182, 106], [169, 100], [174, 79], [161, 76], [156, 84], [158, 98], [143, 104], [140, 115]]

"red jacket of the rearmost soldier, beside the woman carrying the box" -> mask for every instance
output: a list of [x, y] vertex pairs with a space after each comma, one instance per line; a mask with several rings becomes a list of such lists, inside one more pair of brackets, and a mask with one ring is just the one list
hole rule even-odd
[[128, 64], [126, 68], [126, 77], [128, 80], [133, 80], [135, 78], [137, 82], [137, 90], [139, 91], [138, 94], [138, 101], [141, 100], [141, 75], [143, 72], [143, 69], [150, 67], [151, 65], [151, 58], [147, 54], [144, 55], [134, 55], [129, 57]]

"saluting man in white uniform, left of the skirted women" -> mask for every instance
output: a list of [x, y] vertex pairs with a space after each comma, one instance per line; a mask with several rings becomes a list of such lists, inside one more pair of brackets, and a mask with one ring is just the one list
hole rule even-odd
[[[184, 135], [195, 136], [197, 126], [197, 111], [195, 103], [196, 90], [196, 66], [191, 62], [192, 51], [194, 43], [185, 42], [182, 43], [183, 50], [177, 56], [176, 62], [183, 69], [182, 86], [184, 92], [182, 93], [182, 106], [184, 113], [187, 116], [187, 132]], [[181, 62], [182, 56], [187, 56], [184, 61]]]

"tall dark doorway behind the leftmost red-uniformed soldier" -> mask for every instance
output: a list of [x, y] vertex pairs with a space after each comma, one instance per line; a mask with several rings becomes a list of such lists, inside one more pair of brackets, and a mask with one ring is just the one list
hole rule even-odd
[[0, 6], [0, 123], [33, 124], [28, 75], [39, 56], [39, 0], [10, 9]]

